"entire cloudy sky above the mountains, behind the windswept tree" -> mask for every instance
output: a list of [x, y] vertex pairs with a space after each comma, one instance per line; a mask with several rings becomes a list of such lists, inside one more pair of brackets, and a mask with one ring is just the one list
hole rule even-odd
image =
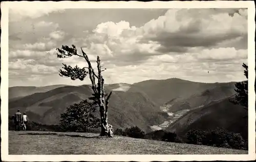
[[100, 56], [107, 84], [172, 77], [239, 81], [248, 55], [247, 10], [12, 8], [9, 87], [89, 84], [89, 78], [58, 75], [61, 63], [87, 65], [56, 57], [57, 47], [71, 44], [92, 62]]

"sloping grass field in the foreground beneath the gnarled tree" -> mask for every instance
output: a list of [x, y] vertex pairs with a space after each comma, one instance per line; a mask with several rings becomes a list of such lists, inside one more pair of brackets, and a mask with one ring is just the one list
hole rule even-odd
[[200, 145], [169, 143], [94, 133], [9, 131], [9, 154], [248, 154]]

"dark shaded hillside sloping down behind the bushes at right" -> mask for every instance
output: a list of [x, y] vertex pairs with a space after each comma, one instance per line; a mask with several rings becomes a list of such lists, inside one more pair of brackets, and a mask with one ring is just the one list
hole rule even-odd
[[244, 139], [248, 139], [248, 121], [245, 118], [248, 112], [243, 106], [231, 103], [229, 100], [233, 97], [213, 101], [199, 109], [191, 110], [170, 124], [166, 130], [175, 131], [184, 137], [190, 129], [208, 130], [220, 127], [240, 133]]

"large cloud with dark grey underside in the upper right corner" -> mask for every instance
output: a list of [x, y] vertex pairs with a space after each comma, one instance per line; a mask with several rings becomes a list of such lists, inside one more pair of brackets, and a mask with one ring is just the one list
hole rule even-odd
[[212, 12], [210, 9], [170, 9], [164, 16], [142, 27], [142, 41], [159, 42], [159, 51], [162, 52], [184, 52], [186, 47], [212, 47], [222, 41], [245, 37], [247, 19], [244, 15], [247, 10], [239, 11], [243, 14], [229, 15]]

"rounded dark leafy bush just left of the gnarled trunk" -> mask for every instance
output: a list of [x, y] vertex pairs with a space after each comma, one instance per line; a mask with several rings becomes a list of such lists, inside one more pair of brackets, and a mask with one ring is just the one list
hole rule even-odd
[[60, 116], [59, 126], [63, 131], [87, 132], [100, 126], [100, 119], [95, 117], [96, 104], [82, 100], [69, 106]]

